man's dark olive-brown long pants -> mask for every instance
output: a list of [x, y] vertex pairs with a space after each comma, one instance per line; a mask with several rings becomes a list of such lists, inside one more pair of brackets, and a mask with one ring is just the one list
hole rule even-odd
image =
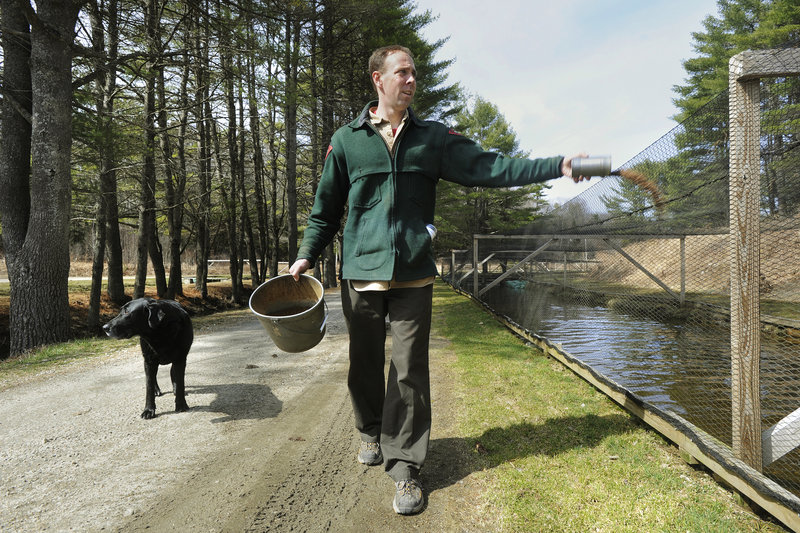
[[[425, 462], [431, 430], [428, 345], [433, 286], [358, 292], [344, 280], [342, 308], [350, 333], [347, 385], [356, 429], [380, 442], [395, 481], [415, 477]], [[392, 360], [384, 373], [386, 317]]]

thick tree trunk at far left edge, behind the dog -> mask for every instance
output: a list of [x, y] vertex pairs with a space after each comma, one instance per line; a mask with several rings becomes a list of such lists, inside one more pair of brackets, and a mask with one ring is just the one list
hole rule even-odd
[[0, 213], [11, 282], [10, 354], [19, 354], [64, 341], [71, 333], [70, 45], [78, 7], [39, 0], [34, 11], [27, 3], [3, 0], [0, 12], [4, 60]]

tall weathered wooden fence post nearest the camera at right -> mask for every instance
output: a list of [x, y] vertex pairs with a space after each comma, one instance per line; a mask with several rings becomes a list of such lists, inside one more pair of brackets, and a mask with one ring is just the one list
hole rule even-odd
[[748, 52], [729, 64], [731, 408], [735, 457], [758, 471], [761, 458], [759, 362], [759, 79], [742, 79]]

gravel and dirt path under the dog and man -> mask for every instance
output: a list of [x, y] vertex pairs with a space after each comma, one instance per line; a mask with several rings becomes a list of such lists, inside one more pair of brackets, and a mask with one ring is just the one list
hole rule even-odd
[[[313, 350], [277, 350], [249, 311], [195, 331], [187, 402], [142, 420], [138, 347], [0, 391], [2, 531], [486, 531], [479, 482], [453, 436], [455, 399], [433, 339], [426, 510], [400, 517], [381, 467], [355, 460], [336, 292]], [[169, 371], [159, 372], [169, 391]], [[440, 416], [437, 416], [437, 413]]]

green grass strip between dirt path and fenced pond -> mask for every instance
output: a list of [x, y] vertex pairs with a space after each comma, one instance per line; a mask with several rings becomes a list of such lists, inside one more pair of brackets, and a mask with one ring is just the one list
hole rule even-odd
[[502, 531], [783, 531], [605, 395], [437, 283], [459, 429]]

